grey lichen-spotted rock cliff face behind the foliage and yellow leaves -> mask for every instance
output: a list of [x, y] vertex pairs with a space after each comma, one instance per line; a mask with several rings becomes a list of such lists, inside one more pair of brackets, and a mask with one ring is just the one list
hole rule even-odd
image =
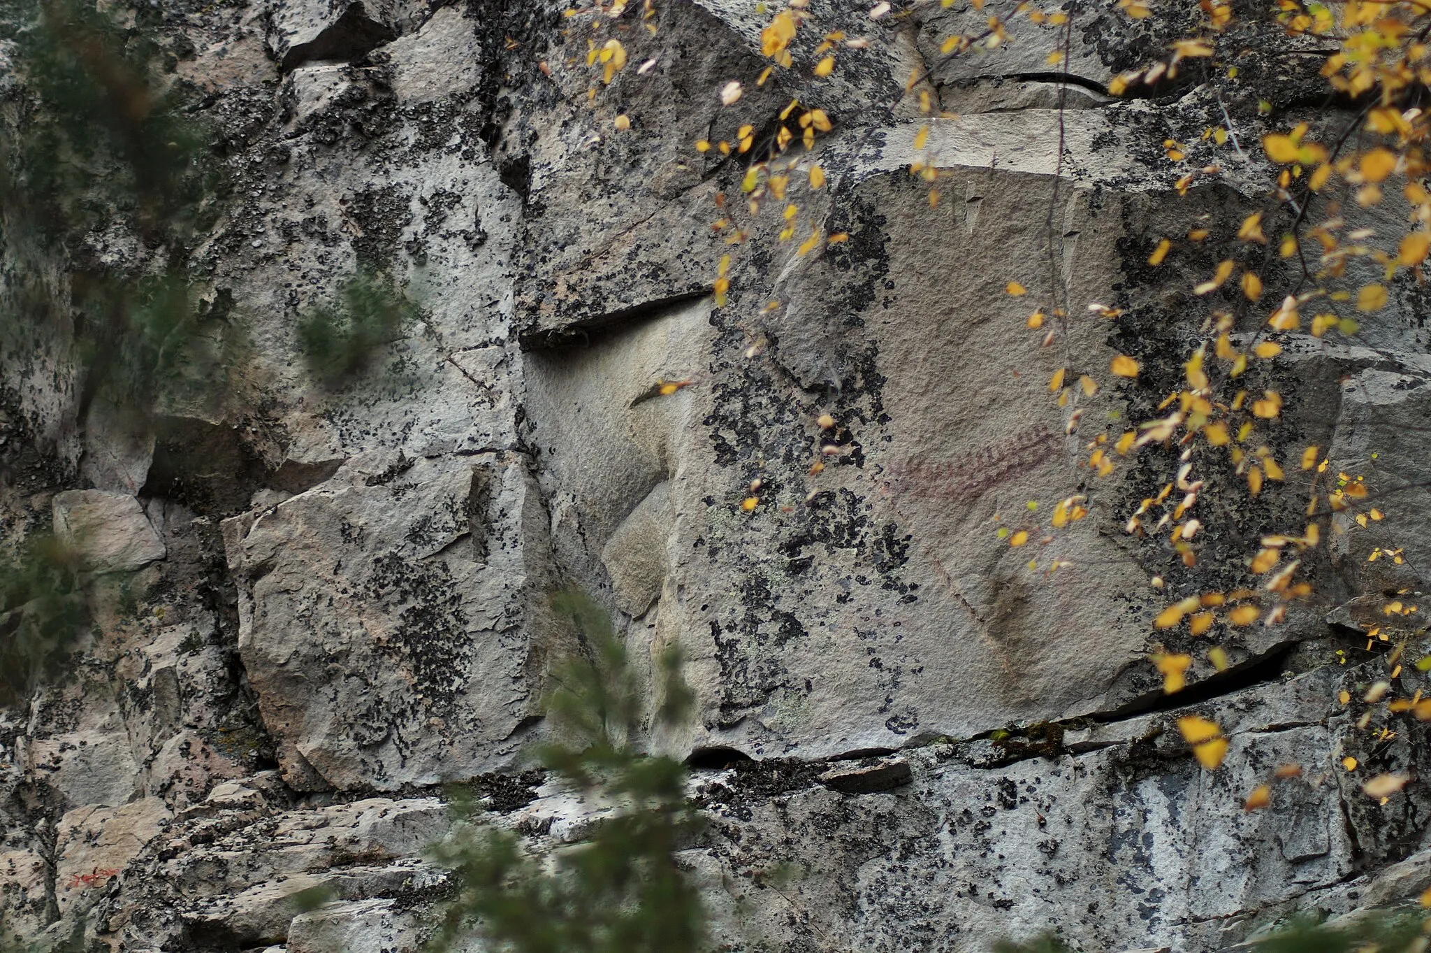
[[[1259, 99], [1318, 119], [1315, 66], [1264, 41], [1252, 4], [1236, 90], [1128, 100], [1102, 90], [1179, 24], [1069, 4], [1060, 113], [1052, 30], [949, 60], [939, 40], [970, 11], [876, 23], [816, 0], [811, 36], [877, 43], [829, 80], [747, 82], [740, 119], [717, 90], [766, 63], [746, 0], [655, 0], [647, 20], [631, 4], [602, 27], [631, 66], [594, 97], [592, 17], [541, 0], [169, 6], [176, 82], [232, 177], [192, 268], [242, 335], [242, 386], [135, 432], [79, 416], [64, 341], [6, 332], [6, 532], [53, 525], [113, 597], [66, 677], [0, 711], [7, 934], [418, 949], [444, 783], [477, 778], [494, 823], [539, 844], [590, 823], [524, 773], [574, 640], [547, 600], [564, 585], [608, 604], [648, 670], [684, 651], [697, 717], [653, 744], [691, 758], [711, 823], [685, 859], [724, 949], [983, 950], [1053, 929], [1089, 950], [1215, 950], [1431, 883], [1431, 794], [1359, 791], [1367, 771], [1415, 773], [1425, 731], [1375, 735], [1338, 701], [1385, 668], [1357, 600], [1420, 587], [1424, 499], [1398, 501], [1394, 539], [1335, 544], [1322, 602], [1229, 634], [1228, 673], [1196, 653], [1171, 701], [1146, 663], [1165, 602], [1149, 582], [1181, 570], [1120, 534], [1126, 512], [1040, 555], [1075, 564], [1053, 575], [995, 539], [996, 514], [1083, 478], [1085, 438], [1045, 386], [1063, 355], [1022, 331], [1005, 282], [1046, 282], [1055, 235], [1070, 300], [1125, 312], [1072, 322], [1079, 363], [1176, 371], [1176, 316], [1216, 259], [1153, 273], [1148, 252], [1191, 219], [1235, 230], [1265, 169], [1219, 153], [1224, 175], [1181, 197], [1161, 143], [1212, 160], [1199, 136], [1222, 107], [1255, 142]], [[932, 123], [937, 206], [907, 169], [920, 92], [957, 113]], [[744, 169], [691, 145], [791, 99], [834, 126], [813, 212], [850, 238], [801, 258], [757, 235], [716, 308], [713, 202]], [[7, 295], [63, 300], [57, 265], [6, 255]], [[325, 388], [298, 315], [356, 269], [422, 315]], [[1285, 446], [1388, 485], [1428, 476], [1427, 302], [1394, 293], [1365, 346], [1294, 336], [1269, 372], [1295, 398]], [[1148, 378], [1099, 376], [1085, 416], [1156, 405]], [[655, 381], [690, 385], [638, 399]], [[1103, 498], [1132, 502], [1161, 482], [1110, 479]], [[1269, 488], [1229, 507], [1228, 532], [1299, 505]], [[1388, 544], [1404, 565], [1367, 562]], [[1171, 728], [1185, 708], [1216, 713], [1219, 771]], [[1282, 763], [1302, 777], [1244, 813]], [[299, 913], [312, 886], [336, 900]]]

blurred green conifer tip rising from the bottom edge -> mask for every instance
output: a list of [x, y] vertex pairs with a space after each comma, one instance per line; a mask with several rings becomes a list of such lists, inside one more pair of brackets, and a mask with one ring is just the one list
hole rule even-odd
[[[704, 912], [677, 851], [695, 830], [685, 767], [637, 744], [643, 700], [635, 673], [604, 610], [562, 592], [557, 610], [581, 634], [582, 653], [562, 667], [550, 713], [562, 740], [542, 763], [592, 806], [610, 806], [590, 840], [551, 857], [529, 854], [512, 834], [481, 826], [469, 798], [438, 849], [458, 884], [434, 942], [461, 949], [474, 932], [517, 953], [687, 953], [704, 933]], [[667, 653], [657, 721], [687, 713], [680, 658]]]

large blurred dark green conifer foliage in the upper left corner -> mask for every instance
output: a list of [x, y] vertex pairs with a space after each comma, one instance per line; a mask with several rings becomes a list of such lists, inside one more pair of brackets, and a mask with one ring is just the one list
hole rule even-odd
[[[96, 399], [146, 414], [160, 382], [193, 361], [202, 313], [187, 253], [218, 216], [215, 136], [166, 77], [147, 4], [20, 0], [0, 14], [10, 59], [0, 122], [0, 239], [13, 259], [49, 258], [67, 308], [7, 303], [7, 321], [49, 323], [82, 368], [80, 412]], [[107, 235], [123, 262], [96, 252]]]

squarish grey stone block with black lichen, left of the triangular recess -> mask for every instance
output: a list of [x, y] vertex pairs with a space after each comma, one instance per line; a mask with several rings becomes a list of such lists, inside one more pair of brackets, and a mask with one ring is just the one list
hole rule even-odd
[[301, 790], [509, 763], [539, 697], [524, 461], [392, 459], [225, 524], [239, 651]]

